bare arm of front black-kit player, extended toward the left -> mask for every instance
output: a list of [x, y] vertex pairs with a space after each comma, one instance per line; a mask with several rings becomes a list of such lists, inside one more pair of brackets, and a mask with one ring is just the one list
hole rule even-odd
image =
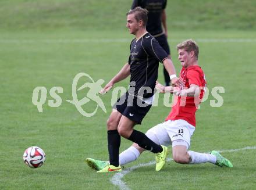
[[100, 94], [105, 94], [108, 92], [115, 83], [118, 83], [119, 81], [124, 80], [130, 75], [130, 64], [126, 63], [123, 68], [116, 74], [115, 77], [111, 79], [111, 81], [108, 82], [108, 84], [105, 85], [105, 87], [99, 92]]

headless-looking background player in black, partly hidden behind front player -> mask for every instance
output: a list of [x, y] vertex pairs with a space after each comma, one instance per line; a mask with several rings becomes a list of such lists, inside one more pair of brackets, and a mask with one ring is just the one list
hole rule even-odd
[[[140, 6], [141, 8], [148, 10], [147, 31], [158, 41], [165, 52], [170, 56], [170, 48], [167, 41], [166, 4], [167, 0], [133, 0], [131, 9]], [[165, 77], [165, 85], [169, 86], [169, 74], [164, 67], [163, 76]]]

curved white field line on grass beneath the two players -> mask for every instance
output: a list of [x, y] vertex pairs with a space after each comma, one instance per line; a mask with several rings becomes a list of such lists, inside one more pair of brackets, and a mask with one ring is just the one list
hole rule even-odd
[[[238, 151], [241, 151], [241, 150], [250, 150], [250, 149], [256, 149], [256, 146], [246, 146], [246, 147], [240, 148], [240, 149], [218, 150], [218, 152], [220, 152], [220, 153], [222, 153], [222, 152], [238, 152]], [[173, 159], [168, 158], [167, 162], [170, 162], [172, 160]], [[122, 170], [121, 172], [116, 173], [115, 175], [113, 175], [113, 177], [111, 178], [110, 181], [113, 185], [118, 186], [119, 189], [121, 189], [121, 190], [130, 190], [130, 188], [126, 185], [126, 183], [122, 181], [122, 178], [126, 174], [129, 174], [131, 171], [133, 171], [135, 169], [138, 169], [139, 167], [151, 166], [153, 164], [155, 164], [155, 161], [151, 161], [151, 162], [148, 162], [148, 163], [141, 163], [141, 164], [138, 164], [136, 166], [129, 167], [129, 168], [127, 168], [125, 170]]]

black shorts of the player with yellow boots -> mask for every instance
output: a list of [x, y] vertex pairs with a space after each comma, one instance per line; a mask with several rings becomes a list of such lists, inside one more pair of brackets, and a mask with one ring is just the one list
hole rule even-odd
[[148, 113], [151, 106], [152, 105], [141, 101], [137, 96], [129, 95], [129, 93], [126, 92], [126, 94], [123, 94], [118, 101], [116, 101], [112, 108], [118, 110], [123, 116], [135, 121], [137, 124], [141, 124], [141, 121]]

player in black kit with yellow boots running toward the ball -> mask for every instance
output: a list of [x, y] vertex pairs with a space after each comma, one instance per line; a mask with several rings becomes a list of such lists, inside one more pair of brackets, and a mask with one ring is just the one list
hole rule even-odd
[[180, 86], [183, 82], [176, 77], [175, 67], [168, 54], [147, 32], [146, 24], [147, 10], [137, 7], [127, 13], [126, 26], [136, 36], [130, 44], [129, 62], [101, 91], [101, 94], [108, 92], [115, 83], [131, 75], [129, 90], [113, 106], [107, 121], [109, 165], [98, 173], [122, 171], [119, 165], [120, 135], [155, 153], [157, 171], [165, 164], [167, 147], [155, 144], [143, 132], [134, 130], [133, 127], [141, 124], [150, 110], [159, 62], [168, 70], [173, 85]]

